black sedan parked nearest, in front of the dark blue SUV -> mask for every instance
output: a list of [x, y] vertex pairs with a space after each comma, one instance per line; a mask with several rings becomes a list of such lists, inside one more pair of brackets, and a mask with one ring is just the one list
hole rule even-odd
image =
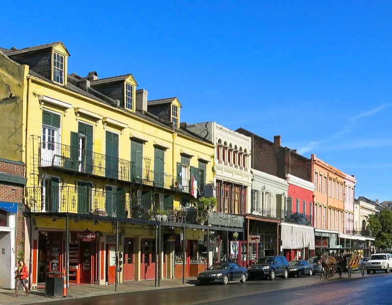
[[244, 283], [247, 278], [246, 268], [240, 267], [236, 262], [220, 262], [213, 264], [206, 271], [200, 272], [197, 281], [201, 285], [207, 282], [221, 282], [226, 285], [231, 281]]

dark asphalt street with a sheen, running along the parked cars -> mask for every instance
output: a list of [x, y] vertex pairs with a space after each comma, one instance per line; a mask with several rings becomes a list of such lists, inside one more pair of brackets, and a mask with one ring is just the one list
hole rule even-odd
[[[392, 274], [343, 274], [333, 280], [312, 277], [277, 278], [274, 281], [229, 282], [186, 288], [122, 293], [62, 300], [61, 305], [249, 305], [249, 304], [392, 304]], [[53, 304], [53, 303], [41, 303]]]

